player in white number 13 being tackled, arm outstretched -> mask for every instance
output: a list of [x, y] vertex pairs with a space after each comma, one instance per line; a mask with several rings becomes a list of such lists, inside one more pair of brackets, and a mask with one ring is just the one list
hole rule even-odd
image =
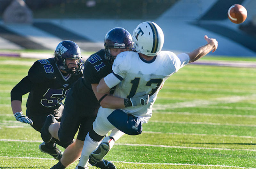
[[[152, 115], [152, 106], [165, 80], [183, 66], [198, 60], [210, 51], [214, 52], [218, 47], [216, 39], [205, 35], [207, 44], [190, 53], [175, 55], [170, 51], [161, 51], [164, 33], [154, 22], [139, 24], [133, 31], [132, 38], [137, 52], [127, 51], [117, 55], [112, 66], [113, 72], [101, 79], [97, 86], [97, 92], [100, 93], [106, 93], [116, 86], [114, 96], [126, 98], [126, 108], [115, 110], [100, 107], [93, 122], [93, 130], [85, 138], [77, 168], [86, 167], [89, 158], [91, 164], [102, 159], [116, 141], [105, 137], [101, 143], [95, 142], [92, 138], [95, 135], [104, 136], [113, 129], [119, 129], [129, 135], [140, 134], [142, 123], [147, 123]], [[142, 93], [148, 94], [149, 99], [145, 97], [137, 103], [130, 100]], [[129, 107], [131, 104], [132, 107]]]

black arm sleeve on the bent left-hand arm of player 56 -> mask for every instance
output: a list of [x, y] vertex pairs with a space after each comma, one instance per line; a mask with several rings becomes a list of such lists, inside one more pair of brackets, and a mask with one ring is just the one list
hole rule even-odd
[[11, 101], [20, 100], [22, 101], [22, 95], [28, 93], [32, 89], [32, 82], [28, 77], [24, 77], [11, 91]]

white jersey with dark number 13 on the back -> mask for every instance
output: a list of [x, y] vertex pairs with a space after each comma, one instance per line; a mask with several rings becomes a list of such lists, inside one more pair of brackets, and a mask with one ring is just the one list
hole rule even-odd
[[[146, 61], [136, 52], [117, 55], [112, 70], [121, 82], [116, 86], [114, 96], [131, 98], [138, 92], [147, 92], [150, 96], [148, 105], [126, 107], [122, 109], [125, 113], [140, 118], [144, 123], [148, 122], [160, 87], [168, 77], [189, 62], [187, 54], [178, 56], [170, 51], [161, 51], [153, 60]], [[110, 88], [116, 85], [111, 86], [113, 82], [110, 82], [110, 78], [105, 77], [104, 80]]]

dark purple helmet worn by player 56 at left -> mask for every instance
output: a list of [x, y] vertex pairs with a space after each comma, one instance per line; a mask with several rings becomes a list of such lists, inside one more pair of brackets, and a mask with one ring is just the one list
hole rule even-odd
[[[59, 69], [64, 70], [69, 74], [79, 74], [84, 67], [80, 48], [75, 42], [71, 40], [61, 41], [55, 49], [54, 57], [55, 57], [55, 62], [58, 65]], [[76, 68], [75, 70], [68, 68], [68, 65], [66, 63], [67, 59], [79, 60], [78, 63], [74, 64]], [[69, 64], [73, 64], [73, 63], [69, 63]]]

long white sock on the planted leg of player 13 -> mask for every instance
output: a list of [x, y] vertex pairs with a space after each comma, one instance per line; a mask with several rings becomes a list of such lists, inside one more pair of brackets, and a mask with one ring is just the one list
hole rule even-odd
[[89, 136], [89, 133], [87, 133], [85, 140], [84, 140], [84, 147], [82, 150], [81, 158], [78, 163], [81, 167], [86, 167], [87, 163], [89, 161], [89, 155], [94, 151], [98, 146], [100, 142], [94, 142], [92, 141], [92, 138]]

